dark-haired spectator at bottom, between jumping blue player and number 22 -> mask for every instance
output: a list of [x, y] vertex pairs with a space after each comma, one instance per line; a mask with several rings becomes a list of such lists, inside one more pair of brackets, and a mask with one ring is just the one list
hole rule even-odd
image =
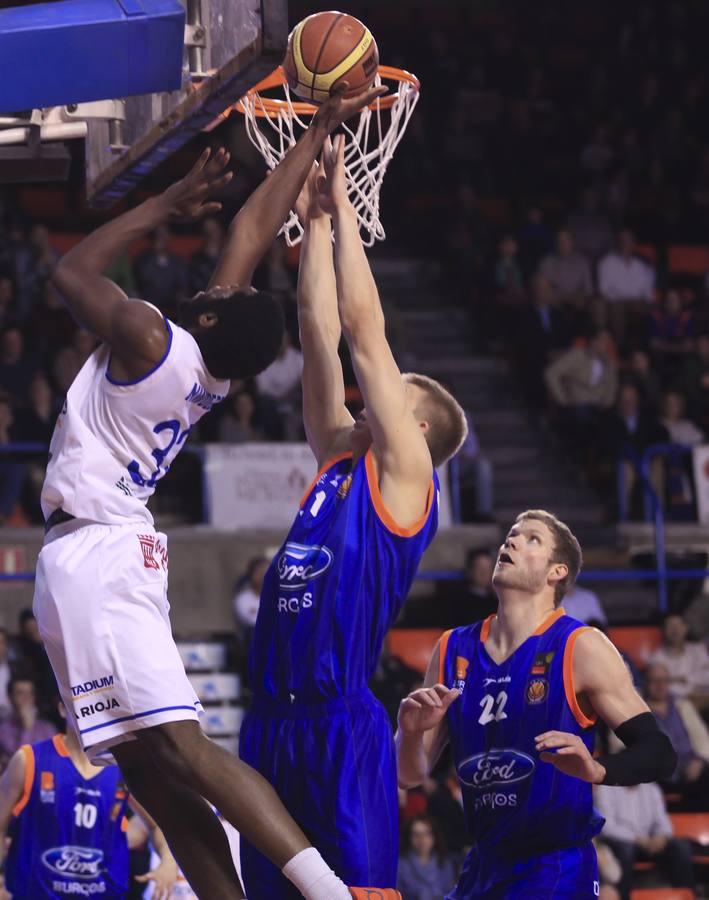
[[415, 816], [402, 834], [396, 886], [406, 900], [440, 900], [453, 887], [457, 872], [446, 856], [436, 824]]

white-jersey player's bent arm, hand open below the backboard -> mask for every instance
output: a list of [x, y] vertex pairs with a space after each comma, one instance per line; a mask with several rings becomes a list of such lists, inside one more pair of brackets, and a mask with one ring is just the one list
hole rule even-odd
[[207, 198], [231, 178], [224, 174], [229, 155], [220, 150], [210, 161], [209, 150], [185, 178], [157, 197], [107, 222], [64, 256], [52, 279], [79, 323], [106, 341], [122, 368], [138, 377], [162, 358], [167, 332], [162, 317], [145, 303], [130, 301], [103, 272], [133, 241], [173, 219], [199, 219], [219, 209]]

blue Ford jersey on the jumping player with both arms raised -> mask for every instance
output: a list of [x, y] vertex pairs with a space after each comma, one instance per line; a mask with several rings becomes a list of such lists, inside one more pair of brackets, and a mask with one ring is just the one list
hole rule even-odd
[[258, 695], [313, 703], [357, 693], [374, 674], [438, 525], [434, 472], [410, 528], [389, 516], [371, 449], [326, 463], [266, 573], [251, 648]]

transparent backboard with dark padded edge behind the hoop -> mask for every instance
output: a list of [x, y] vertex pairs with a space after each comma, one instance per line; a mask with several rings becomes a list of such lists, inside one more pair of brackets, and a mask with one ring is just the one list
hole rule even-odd
[[182, 2], [187, 20], [182, 88], [126, 98], [124, 118], [87, 120], [91, 206], [111, 206], [123, 197], [283, 59], [287, 0]]

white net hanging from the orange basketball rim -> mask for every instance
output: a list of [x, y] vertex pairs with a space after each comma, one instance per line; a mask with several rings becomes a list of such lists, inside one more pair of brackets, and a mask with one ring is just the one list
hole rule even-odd
[[[376, 83], [381, 83], [380, 76], [377, 76]], [[259, 109], [264, 111], [258, 92], [241, 98], [246, 132], [269, 169], [276, 168], [312, 118], [311, 115], [298, 115], [293, 108], [288, 85], [283, 84], [282, 87], [285, 103], [278, 112], [267, 115], [256, 114]], [[377, 103], [375, 109], [365, 108], [359, 113], [356, 126], [352, 124], [354, 119], [342, 126], [346, 132], [347, 193], [357, 212], [365, 247], [371, 247], [375, 241], [383, 241], [386, 237], [379, 220], [379, 192], [387, 166], [404, 136], [418, 98], [418, 89], [408, 81], [402, 81], [398, 84], [398, 97], [389, 109], [382, 109]], [[303, 237], [303, 226], [293, 210], [280, 233], [285, 235], [290, 247]]]

